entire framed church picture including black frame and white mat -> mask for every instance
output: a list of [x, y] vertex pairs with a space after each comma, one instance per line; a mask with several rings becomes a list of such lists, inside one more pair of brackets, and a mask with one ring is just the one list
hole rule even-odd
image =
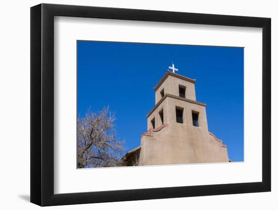
[[31, 8], [31, 202], [271, 189], [270, 19]]

